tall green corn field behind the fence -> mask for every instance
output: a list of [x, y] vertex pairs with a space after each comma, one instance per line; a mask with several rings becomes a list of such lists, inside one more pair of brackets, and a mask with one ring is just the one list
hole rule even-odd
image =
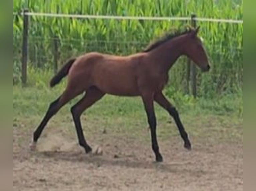
[[[164, 16], [243, 19], [243, 0], [14, 0], [13, 11], [86, 15]], [[53, 68], [53, 41], [58, 39], [59, 65], [68, 57], [90, 51], [127, 55], [141, 51], [151, 40], [188, 21], [145, 21], [29, 17], [29, 63]], [[198, 94], [234, 93], [243, 84], [243, 24], [197, 22], [212, 63], [208, 74], [197, 73]], [[23, 17], [13, 17], [14, 73], [19, 74]], [[186, 58], [170, 71], [176, 90], [186, 84]], [[28, 77], [29, 78], [29, 77]]]

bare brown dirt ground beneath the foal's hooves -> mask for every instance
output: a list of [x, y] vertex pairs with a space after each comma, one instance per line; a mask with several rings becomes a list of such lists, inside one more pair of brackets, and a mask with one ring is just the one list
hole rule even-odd
[[164, 162], [155, 163], [150, 142], [106, 135], [90, 140], [103, 154], [86, 155], [76, 139], [47, 129], [32, 152], [31, 132], [19, 129], [13, 132], [14, 190], [243, 190], [242, 143], [195, 139], [186, 151], [175, 136], [159, 140]]

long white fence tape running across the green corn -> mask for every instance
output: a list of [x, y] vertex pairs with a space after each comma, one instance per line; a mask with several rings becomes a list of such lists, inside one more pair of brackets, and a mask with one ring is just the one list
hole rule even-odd
[[[28, 16], [44, 17], [62, 17], [62, 18], [84, 18], [84, 19], [117, 19], [117, 20], [158, 20], [158, 21], [188, 21], [191, 17], [136, 17], [136, 16], [111, 16], [111, 15], [74, 15], [74, 14], [57, 14], [57, 13], [25, 13]], [[219, 22], [219, 23], [237, 23], [243, 24], [243, 20], [232, 19], [213, 19], [213, 18], [195, 18], [196, 21]]]

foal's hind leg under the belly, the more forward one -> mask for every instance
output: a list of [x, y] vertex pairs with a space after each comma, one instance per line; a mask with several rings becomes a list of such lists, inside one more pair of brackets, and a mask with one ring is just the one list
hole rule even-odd
[[79, 145], [85, 149], [86, 153], [91, 152], [92, 148], [87, 144], [85, 140], [81, 126], [80, 116], [83, 113], [83, 111], [92, 106], [96, 101], [100, 100], [104, 95], [105, 93], [103, 93], [98, 88], [90, 87], [86, 90], [84, 97], [71, 108], [71, 113], [76, 127], [78, 142]]

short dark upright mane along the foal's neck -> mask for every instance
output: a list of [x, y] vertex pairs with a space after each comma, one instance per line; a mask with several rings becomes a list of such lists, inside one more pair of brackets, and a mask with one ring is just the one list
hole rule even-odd
[[149, 52], [159, 47], [161, 44], [165, 43], [166, 41], [169, 41], [180, 35], [187, 34], [189, 32], [191, 32], [190, 27], [186, 27], [185, 29], [172, 29], [169, 32], [165, 33], [160, 38], [158, 38], [157, 40], [151, 42], [142, 52]]

